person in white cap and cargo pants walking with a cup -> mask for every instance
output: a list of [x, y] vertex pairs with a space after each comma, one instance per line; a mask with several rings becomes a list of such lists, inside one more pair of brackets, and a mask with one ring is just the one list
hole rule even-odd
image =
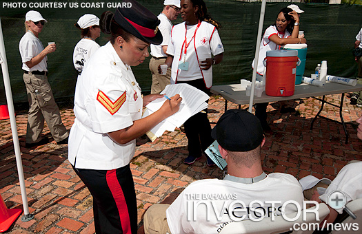
[[47, 54], [57, 50], [57, 46], [52, 43], [44, 49], [38, 38], [44, 23], [47, 22], [39, 12], [30, 10], [26, 13], [26, 34], [19, 43], [23, 80], [30, 106], [26, 129], [26, 147], [28, 148], [44, 145], [49, 141], [48, 138], [41, 138], [44, 120], [58, 145], [68, 143], [69, 134], [61, 122], [59, 108], [55, 103], [47, 76]]

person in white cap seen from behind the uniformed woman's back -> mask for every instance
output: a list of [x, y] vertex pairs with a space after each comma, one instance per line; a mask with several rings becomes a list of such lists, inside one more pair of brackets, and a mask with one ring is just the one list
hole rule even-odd
[[74, 47], [73, 64], [75, 70], [81, 74], [88, 58], [100, 47], [95, 40], [101, 36], [101, 28], [99, 28], [99, 18], [94, 14], [84, 14], [75, 27], [81, 30], [81, 41]]

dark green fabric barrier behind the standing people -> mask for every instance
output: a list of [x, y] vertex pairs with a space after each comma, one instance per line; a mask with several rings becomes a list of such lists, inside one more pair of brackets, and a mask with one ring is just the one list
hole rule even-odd
[[[80, 39], [80, 32], [74, 27], [79, 17], [90, 13], [101, 16], [106, 4], [113, 1], [57, 1], [67, 3], [67, 8], [29, 8], [29, 3], [44, 1], [19, 1], [27, 3], [27, 8], [10, 8], [3, 3], [18, 1], [1, 1], [0, 17], [8, 58], [8, 67], [15, 103], [26, 102], [26, 88], [23, 84], [19, 41], [23, 34], [25, 14], [28, 10], [38, 10], [48, 20], [39, 39], [43, 45], [48, 41], [57, 43], [57, 51], [48, 54], [49, 81], [55, 98], [74, 96], [77, 72], [72, 64], [74, 46]], [[46, 1], [50, 2], [50, 1]], [[56, 2], [56, 1], [52, 1]], [[116, 1], [117, 2], [117, 1]], [[139, 1], [154, 14], [163, 8], [163, 0]], [[251, 63], [257, 44], [257, 30], [261, 3], [245, 3], [241, 1], [206, 0], [212, 17], [219, 21], [223, 28], [219, 30], [225, 48], [223, 62], [214, 66], [214, 85], [239, 83], [241, 78], [251, 79]], [[70, 8], [78, 3], [78, 8]], [[103, 3], [103, 8], [81, 8], [81, 3]], [[290, 3], [267, 3], [263, 32], [274, 24], [279, 10]], [[305, 12], [301, 14], [301, 30], [308, 41], [308, 54], [305, 75], [314, 73], [317, 63], [328, 61], [328, 74], [354, 78], [357, 64], [352, 56], [356, 34], [362, 27], [362, 6], [328, 5], [321, 3], [298, 4]], [[174, 24], [181, 23], [181, 17]], [[101, 34], [97, 39], [104, 45], [107, 35]], [[259, 46], [259, 43], [258, 43]], [[132, 67], [134, 76], [140, 83], [143, 92], [149, 92], [152, 77], [148, 68], [150, 57], [143, 64]], [[1, 74], [2, 77], [2, 74]], [[6, 103], [3, 94], [3, 82], [0, 82], [0, 104]]]

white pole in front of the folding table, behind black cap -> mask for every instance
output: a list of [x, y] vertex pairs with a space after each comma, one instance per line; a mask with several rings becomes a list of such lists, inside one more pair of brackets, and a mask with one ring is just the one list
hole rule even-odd
[[261, 42], [261, 35], [263, 33], [263, 23], [264, 23], [264, 14], [265, 14], [265, 5], [266, 0], [261, 2], [261, 9], [260, 9], [260, 19], [259, 19], [259, 29], [258, 29], [258, 36], [257, 36], [257, 45], [255, 46], [255, 61], [254, 61], [254, 69], [252, 70], [252, 90], [250, 93], [249, 99], [249, 109], [248, 111], [252, 113], [252, 104], [254, 102], [254, 89], [255, 89], [255, 81], [257, 80], [257, 67], [259, 62], [259, 50], [260, 50], [260, 42]]

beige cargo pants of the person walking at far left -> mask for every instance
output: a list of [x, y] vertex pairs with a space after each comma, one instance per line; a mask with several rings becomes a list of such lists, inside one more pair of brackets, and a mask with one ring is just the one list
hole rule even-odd
[[26, 143], [41, 140], [44, 120], [55, 141], [59, 142], [69, 136], [66, 127], [61, 122], [57, 103], [55, 103], [48, 77], [44, 75], [23, 74], [23, 80], [28, 94], [29, 114], [26, 127]]

